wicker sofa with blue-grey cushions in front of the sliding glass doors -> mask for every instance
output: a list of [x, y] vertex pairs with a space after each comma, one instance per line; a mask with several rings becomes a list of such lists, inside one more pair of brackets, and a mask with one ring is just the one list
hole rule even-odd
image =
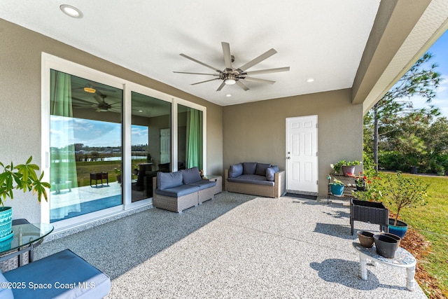
[[197, 167], [158, 172], [153, 179], [153, 207], [181, 212], [214, 197], [216, 181], [202, 179]]

